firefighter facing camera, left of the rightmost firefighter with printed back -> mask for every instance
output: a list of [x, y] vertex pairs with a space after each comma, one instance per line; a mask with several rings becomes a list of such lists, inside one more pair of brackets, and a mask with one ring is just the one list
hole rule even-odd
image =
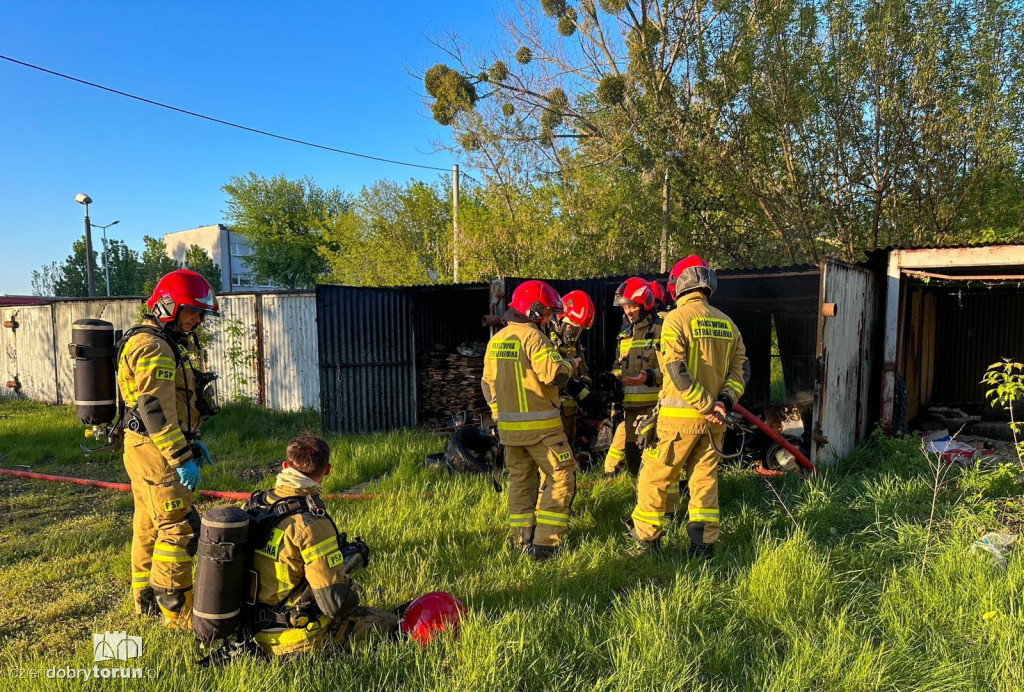
[[634, 428], [637, 419], [653, 410], [662, 384], [657, 363], [662, 319], [654, 312], [650, 286], [639, 276], [618, 286], [614, 303], [623, 308], [624, 327], [618, 333], [617, 357], [611, 373], [623, 383], [625, 420], [615, 427], [604, 459], [604, 472], [615, 473], [625, 461], [627, 471], [636, 476], [640, 470], [640, 449]]

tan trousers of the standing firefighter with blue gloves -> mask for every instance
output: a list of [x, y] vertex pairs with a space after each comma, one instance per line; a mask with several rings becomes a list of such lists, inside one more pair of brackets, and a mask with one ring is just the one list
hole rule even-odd
[[191, 492], [150, 438], [125, 433], [125, 470], [135, 500], [132, 593], [136, 609], [142, 612], [144, 602], [153, 598], [152, 590], [191, 589], [200, 518]]

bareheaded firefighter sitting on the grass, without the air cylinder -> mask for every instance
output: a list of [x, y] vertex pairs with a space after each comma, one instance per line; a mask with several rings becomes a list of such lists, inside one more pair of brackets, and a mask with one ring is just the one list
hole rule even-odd
[[319, 495], [330, 473], [327, 442], [316, 435], [299, 435], [288, 444], [273, 489], [255, 493], [246, 508], [280, 508], [287, 505], [281, 501], [291, 499], [305, 503], [301, 511], [286, 513], [253, 555], [253, 641], [265, 653], [304, 653], [352, 644], [371, 631], [398, 632], [399, 617], [393, 611], [358, 605], [346, 557], [358, 554], [366, 565], [370, 550], [358, 539], [349, 544], [339, 536], [327, 514]]

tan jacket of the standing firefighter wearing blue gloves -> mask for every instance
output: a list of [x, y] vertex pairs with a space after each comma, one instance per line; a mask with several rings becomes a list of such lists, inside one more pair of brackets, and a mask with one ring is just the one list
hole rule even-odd
[[[143, 325], [157, 330], [162, 326], [146, 316]], [[166, 332], [165, 332], [166, 334]], [[170, 337], [173, 343], [175, 340]], [[118, 362], [118, 388], [125, 405], [135, 409], [147, 436], [171, 466], [180, 466], [191, 459], [188, 442], [200, 428], [196, 407], [196, 377], [189, 351], [177, 343], [175, 357], [168, 340], [147, 332], [131, 336], [121, 350]], [[143, 436], [130, 428], [126, 438]]]

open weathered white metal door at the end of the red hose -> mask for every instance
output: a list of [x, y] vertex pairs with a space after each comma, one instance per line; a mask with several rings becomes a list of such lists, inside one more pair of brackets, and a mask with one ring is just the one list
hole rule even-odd
[[878, 280], [868, 269], [829, 260], [822, 282], [822, 302], [835, 303], [837, 312], [819, 318], [821, 381], [814, 410], [819, 436], [814, 461], [830, 464], [870, 434]]

